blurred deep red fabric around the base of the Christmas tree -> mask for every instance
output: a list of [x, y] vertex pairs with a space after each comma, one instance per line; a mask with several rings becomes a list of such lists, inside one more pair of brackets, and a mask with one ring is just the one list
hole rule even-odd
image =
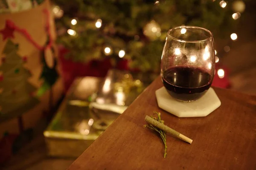
[[[93, 59], [88, 63], [73, 62], [71, 59], [65, 59], [64, 56], [69, 50], [63, 47], [59, 47], [59, 58], [61, 62], [61, 75], [64, 80], [64, 87], [67, 90], [76, 77], [93, 76], [93, 77], [105, 77], [108, 70], [113, 67], [111, 60], [106, 58], [104, 60]], [[129, 69], [128, 60], [120, 59], [117, 62], [116, 68], [119, 70], [131, 70], [134, 72], [140, 72], [139, 68]], [[222, 68], [225, 72], [225, 76], [221, 79], [218, 77], [218, 69]], [[229, 70], [223, 65], [216, 64], [216, 74], [212, 82], [212, 86], [219, 88], [230, 88], [231, 84], [228, 79]]]

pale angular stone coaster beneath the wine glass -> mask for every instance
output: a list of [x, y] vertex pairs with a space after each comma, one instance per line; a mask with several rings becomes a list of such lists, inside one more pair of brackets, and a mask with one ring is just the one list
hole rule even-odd
[[160, 108], [178, 117], [203, 117], [212, 113], [221, 105], [213, 88], [194, 102], [180, 102], [168, 94], [164, 87], [156, 91], [157, 104]]

